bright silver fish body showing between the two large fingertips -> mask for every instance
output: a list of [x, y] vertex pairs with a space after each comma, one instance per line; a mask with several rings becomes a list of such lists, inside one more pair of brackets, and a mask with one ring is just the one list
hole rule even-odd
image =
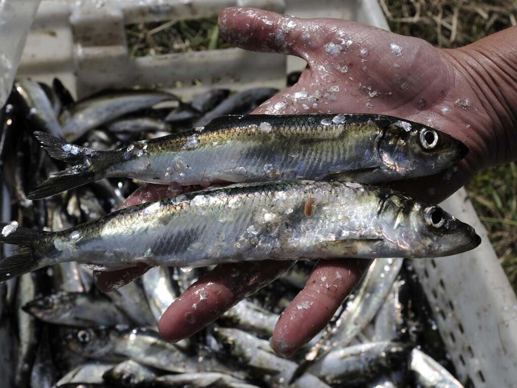
[[219, 320], [240, 330], [269, 338], [273, 335], [278, 318], [278, 314], [242, 300], [227, 310]]

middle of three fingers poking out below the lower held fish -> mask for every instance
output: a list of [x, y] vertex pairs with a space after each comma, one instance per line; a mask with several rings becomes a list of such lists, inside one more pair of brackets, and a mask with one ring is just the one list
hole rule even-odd
[[198, 279], [163, 313], [158, 324], [168, 341], [189, 337], [223, 312], [281, 276], [292, 261], [265, 260], [218, 265]]

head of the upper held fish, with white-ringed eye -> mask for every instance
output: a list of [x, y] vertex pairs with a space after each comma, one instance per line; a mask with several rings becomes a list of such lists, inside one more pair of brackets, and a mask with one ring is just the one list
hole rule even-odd
[[438, 173], [467, 153], [468, 147], [447, 133], [403, 120], [385, 126], [378, 139], [378, 154], [385, 167], [404, 177]]

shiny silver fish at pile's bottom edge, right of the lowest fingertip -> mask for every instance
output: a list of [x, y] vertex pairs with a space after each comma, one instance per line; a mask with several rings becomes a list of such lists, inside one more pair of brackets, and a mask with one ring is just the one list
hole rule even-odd
[[408, 353], [397, 342], [370, 342], [331, 351], [308, 371], [329, 384], [364, 384], [400, 365]]

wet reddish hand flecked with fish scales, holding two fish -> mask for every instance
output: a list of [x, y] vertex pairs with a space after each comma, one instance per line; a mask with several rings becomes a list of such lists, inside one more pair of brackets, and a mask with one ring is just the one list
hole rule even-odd
[[[249, 8], [228, 8], [219, 22], [223, 37], [235, 46], [298, 55], [308, 63], [294, 86], [254, 113], [382, 113], [427, 124], [465, 142], [470, 153], [456, 169], [396, 184], [415, 196], [438, 202], [480, 168], [515, 157], [517, 142], [508, 139], [515, 138], [510, 131], [517, 114], [505, 96], [515, 88], [517, 69], [511, 73], [500, 66], [501, 61], [483, 55], [493, 43], [481, 40], [461, 49], [440, 50], [418, 38], [349, 21], [301, 20]], [[517, 29], [509, 30], [497, 35], [513, 34], [515, 40]], [[504, 59], [505, 55], [495, 52], [492, 56]], [[148, 200], [163, 192], [151, 186], [143, 190], [148, 190]], [[130, 198], [138, 199], [139, 193]], [[165, 311], [160, 333], [169, 340], [194, 334], [291, 264], [218, 265]], [[272, 349], [291, 355], [323, 329], [368, 264], [364, 260], [321, 260], [306, 287], [280, 317], [271, 338]], [[139, 276], [139, 271], [125, 270], [126, 279]], [[97, 284], [110, 286], [118, 276], [102, 273], [96, 276]], [[199, 301], [201, 289], [208, 297]], [[309, 302], [305, 303], [308, 309], [296, 308], [304, 302]], [[193, 303], [197, 309], [192, 308]]]

